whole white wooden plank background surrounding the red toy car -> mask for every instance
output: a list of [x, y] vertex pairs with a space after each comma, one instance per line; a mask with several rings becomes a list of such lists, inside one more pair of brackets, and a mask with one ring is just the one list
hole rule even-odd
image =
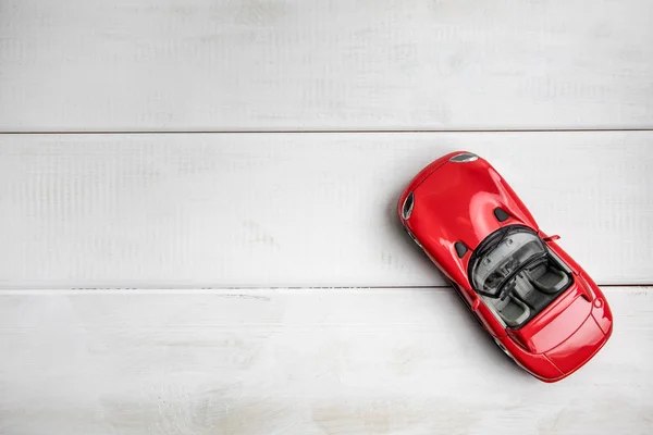
[[[653, 433], [653, 2], [0, 0], [0, 434]], [[603, 286], [553, 385], [394, 216], [488, 158]]]

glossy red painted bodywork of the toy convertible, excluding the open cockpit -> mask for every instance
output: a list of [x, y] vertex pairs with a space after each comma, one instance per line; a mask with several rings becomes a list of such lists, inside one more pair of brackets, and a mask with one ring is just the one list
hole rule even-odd
[[[490, 163], [480, 157], [468, 162], [449, 160], [463, 153], [470, 152], [443, 156], [415, 176], [399, 197], [399, 220], [497, 345], [537, 378], [560, 381], [584, 365], [609, 338], [609, 306], [592, 278], [554, 241], [557, 237], [549, 237], [539, 228], [523, 202]], [[414, 207], [410, 216], [404, 219], [403, 207], [410, 192]], [[504, 222], [493, 214], [497, 207], [508, 214]], [[490, 234], [515, 224], [539, 235], [569, 268], [572, 283], [526, 324], [513, 330], [472, 288], [468, 266], [475, 248]], [[468, 248], [463, 258], [456, 252], [456, 241]]]

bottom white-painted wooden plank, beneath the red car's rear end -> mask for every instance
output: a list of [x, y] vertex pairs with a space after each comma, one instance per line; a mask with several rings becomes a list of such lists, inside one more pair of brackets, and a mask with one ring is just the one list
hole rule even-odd
[[547, 386], [449, 289], [4, 291], [8, 434], [653, 432], [653, 290]]

